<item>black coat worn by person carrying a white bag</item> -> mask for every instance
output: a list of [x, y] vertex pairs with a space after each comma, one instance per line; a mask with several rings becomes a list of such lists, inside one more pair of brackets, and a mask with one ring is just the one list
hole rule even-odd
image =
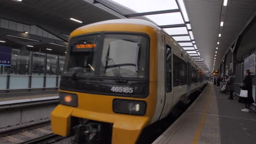
[[242, 89], [248, 91], [248, 97], [245, 98], [245, 103], [252, 104], [254, 103], [252, 97], [252, 77], [250, 75], [246, 76], [245, 79], [243, 80], [243, 83], [245, 83], [245, 86], [242, 87]]

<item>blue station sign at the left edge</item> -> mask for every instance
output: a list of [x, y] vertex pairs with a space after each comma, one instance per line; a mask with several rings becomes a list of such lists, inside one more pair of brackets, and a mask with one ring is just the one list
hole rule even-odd
[[0, 46], [0, 65], [11, 65], [11, 48]]

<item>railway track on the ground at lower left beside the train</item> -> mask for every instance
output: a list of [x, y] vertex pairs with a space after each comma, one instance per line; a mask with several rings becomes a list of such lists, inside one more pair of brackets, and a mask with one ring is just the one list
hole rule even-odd
[[46, 144], [63, 138], [62, 136], [51, 133], [50, 121], [0, 131], [0, 143], [6, 144]]

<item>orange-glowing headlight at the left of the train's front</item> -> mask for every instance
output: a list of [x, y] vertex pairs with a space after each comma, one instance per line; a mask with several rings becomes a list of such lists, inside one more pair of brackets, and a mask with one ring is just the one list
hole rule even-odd
[[60, 93], [60, 104], [77, 107], [77, 95], [71, 93]]

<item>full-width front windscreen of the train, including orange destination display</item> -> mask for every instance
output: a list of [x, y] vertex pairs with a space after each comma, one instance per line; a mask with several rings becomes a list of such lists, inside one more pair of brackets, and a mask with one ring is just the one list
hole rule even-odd
[[[102, 38], [103, 37], [103, 38]], [[148, 38], [96, 34], [72, 43], [64, 75], [146, 78]]]

